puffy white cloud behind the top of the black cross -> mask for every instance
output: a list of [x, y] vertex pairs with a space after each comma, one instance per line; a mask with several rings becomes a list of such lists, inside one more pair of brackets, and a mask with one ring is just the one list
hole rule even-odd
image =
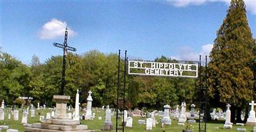
[[[64, 36], [64, 32], [68, 24], [64, 21], [57, 20], [56, 18], [52, 18], [49, 22], [46, 22], [40, 32], [39, 38], [42, 40], [57, 38], [59, 36]], [[68, 27], [68, 36], [74, 36], [76, 32]]]

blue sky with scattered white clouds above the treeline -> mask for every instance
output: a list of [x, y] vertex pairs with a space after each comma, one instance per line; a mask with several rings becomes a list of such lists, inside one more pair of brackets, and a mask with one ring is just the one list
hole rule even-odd
[[[1, 1], [1, 48], [23, 63], [62, 55], [64, 40], [76, 53], [98, 49], [153, 60], [165, 55], [198, 59], [208, 54], [227, 13], [228, 1]], [[256, 2], [246, 2], [256, 38]]]

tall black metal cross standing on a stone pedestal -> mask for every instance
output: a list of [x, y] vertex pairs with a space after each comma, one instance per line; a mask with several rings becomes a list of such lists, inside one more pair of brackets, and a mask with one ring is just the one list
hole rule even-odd
[[61, 91], [60, 94], [64, 95], [65, 86], [65, 71], [66, 71], [66, 53], [68, 50], [76, 51], [76, 48], [68, 46], [68, 28], [65, 31], [64, 44], [54, 43], [53, 46], [63, 49], [63, 63], [62, 63], [62, 79], [61, 79]]

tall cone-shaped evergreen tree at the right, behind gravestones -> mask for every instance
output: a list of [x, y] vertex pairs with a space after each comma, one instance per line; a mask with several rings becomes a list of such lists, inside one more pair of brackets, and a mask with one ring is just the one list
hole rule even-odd
[[208, 88], [210, 96], [222, 106], [231, 104], [232, 121], [235, 121], [235, 111], [237, 121], [241, 121], [241, 109], [253, 100], [254, 79], [249, 61], [253, 58], [254, 46], [245, 3], [231, 0], [210, 53]]

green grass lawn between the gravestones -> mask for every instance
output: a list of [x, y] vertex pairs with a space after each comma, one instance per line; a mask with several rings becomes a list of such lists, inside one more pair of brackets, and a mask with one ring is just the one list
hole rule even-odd
[[[81, 123], [83, 125], [88, 125], [88, 129], [93, 129], [93, 130], [99, 130], [101, 129], [103, 122], [104, 122], [104, 115], [105, 112], [104, 111], [99, 111], [99, 110], [95, 110], [94, 113], [96, 113], [96, 117], [94, 120], [92, 121], [88, 121], [88, 120], [81, 120]], [[50, 112], [50, 110], [36, 110], [36, 115], [35, 117], [31, 117], [31, 112], [29, 112], [29, 119], [28, 119], [28, 123], [35, 123], [35, 122], [39, 122], [39, 113], [41, 116], [45, 116], [46, 117], [46, 113]], [[80, 112], [80, 114], [82, 114], [82, 112]], [[98, 117], [101, 116], [102, 119], [98, 120]], [[8, 114], [7, 114], [7, 110], [5, 109], [5, 123], [7, 125], [9, 125], [10, 129], [19, 129], [19, 131], [24, 131], [24, 127], [21, 124], [21, 118], [22, 118], [22, 114], [21, 111], [19, 112], [19, 121], [14, 121], [13, 120], [13, 115], [11, 116], [11, 119], [8, 119]], [[161, 131], [174, 131], [174, 132], [180, 132], [182, 131], [182, 129], [185, 129], [186, 125], [183, 126], [178, 126], [178, 122], [174, 119], [172, 119], [172, 125], [166, 125], [164, 128], [160, 127], [160, 121], [159, 121], [160, 117], [156, 117], [157, 121], [159, 122], [159, 124], [156, 125], [156, 127], [153, 127], [152, 131], [155, 132], [161, 132]], [[141, 118], [141, 117], [133, 117], [133, 127], [132, 128], [127, 128], [125, 127], [125, 131], [127, 132], [143, 132], [146, 131], [146, 126], [145, 125], [139, 125], [138, 123], [138, 119], [145, 119], [145, 118]], [[115, 116], [112, 116], [112, 123], [113, 123], [113, 131], [115, 131]], [[121, 124], [121, 123], [119, 123]], [[198, 131], [198, 123], [194, 123], [192, 124], [194, 127], [194, 131]], [[207, 123], [207, 131], [209, 132], [231, 132], [231, 131], [236, 131], [237, 127], [240, 128], [246, 128], [246, 131], [253, 131], [253, 127], [242, 127], [242, 126], [235, 126], [233, 125], [232, 129], [223, 129], [223, 125], [224, 125], [224, 121], [211, 121], [209, 123]], [[121, 126], [119, 126], [121, 127]], [[2, 130], [3, 132], [5, 132], [6, 130]]]

